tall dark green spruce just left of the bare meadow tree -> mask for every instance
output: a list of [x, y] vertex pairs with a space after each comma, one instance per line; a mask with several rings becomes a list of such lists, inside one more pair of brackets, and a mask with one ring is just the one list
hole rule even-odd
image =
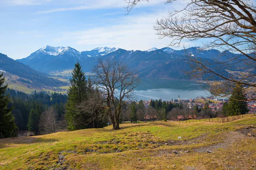
[[71, 86], [67, 93], [67, 112], [65, 118], [69, 130], [78, 130], [85, 128], [82, 125], [82, 115], [79, 113], [77, 106], [86, 99], [87, 81], [82, 71], [79, 62], [75, 64], [75, 68], [72, 72], [72, 78], [70, 78]]

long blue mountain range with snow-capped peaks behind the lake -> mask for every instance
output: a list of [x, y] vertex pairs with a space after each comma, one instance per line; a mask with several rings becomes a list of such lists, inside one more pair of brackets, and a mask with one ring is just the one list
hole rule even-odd
[[[71, 47], [52, 47], [47, 45], [26, 58], [17, 59], [17, 61], [45, 73], [73, 69], [74, 64], [79, 61], [83, 70], [90, 72], [99, 57], [111, 58], [122, 60], [131, 69], [137, 70], [140, 77], [187, 79], [184, 71], [189, 71], [191, 68], [189, 63], [184, 60], [186, 54], [201, 58], [209, 63], [213, 63], [212, 58], [225, 61], [230, 57], [239, 56], [239, 54], [233, 54], [229, 51], [202, 50], [199, 47], [187, 48], [186, 50], [174, 50], [169, 47], [151, 48], [147, 51], [100, 47], [91, 51], [79, 52]], [[228, 68], [217, 69], [215, 66], [212, 65], [213, 70], [216, 69], [221, 74], [229, 74]]]

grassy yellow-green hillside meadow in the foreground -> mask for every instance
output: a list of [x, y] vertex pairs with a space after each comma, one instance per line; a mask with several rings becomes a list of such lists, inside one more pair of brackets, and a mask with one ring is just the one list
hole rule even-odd
[[[0, 140], [0, 169], [255, 169], [256, 116], [149, 122]], [[251, 136], [248, 136], [250, 133]], [[181, 136], [182, 139], [178, 139]]]

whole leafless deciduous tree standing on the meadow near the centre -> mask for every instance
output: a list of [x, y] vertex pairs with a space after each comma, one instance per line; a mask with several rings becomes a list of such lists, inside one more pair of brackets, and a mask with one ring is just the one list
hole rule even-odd
[[[108, 116], [113, 130], [120, 129], [119, 117], [124, 99], [133, 99], [133, 90], [139, 85], [139, 78], [127, 65], [111, 59], [99, 59], [93, 68], [93, 84], [98, 86], [106, 96]], [[116, 100], [116, 98], [118, 100]], [[119, 102], [120, 101], [120, 102]]]

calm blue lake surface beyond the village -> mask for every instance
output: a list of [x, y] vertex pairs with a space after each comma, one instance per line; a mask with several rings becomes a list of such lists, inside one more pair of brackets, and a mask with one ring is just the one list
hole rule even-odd
[[135, 89], [137, 101], [162, 99], [195, 99], [197, 96], [209, 96], [201, 84], [196, 81], [170, 79], [141, 79], [141, 84]]

